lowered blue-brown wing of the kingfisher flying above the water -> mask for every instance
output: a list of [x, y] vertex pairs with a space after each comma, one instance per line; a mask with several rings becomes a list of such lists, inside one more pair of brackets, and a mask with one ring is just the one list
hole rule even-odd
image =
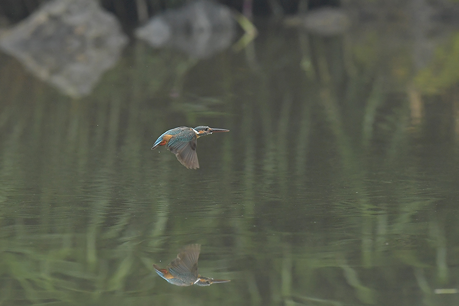
[[188, 169], [199, 168], [196, 154], [196, 134], [193, 131], [186, 130], [172, 136], [167, 147], [175, 154], [177, 160]]

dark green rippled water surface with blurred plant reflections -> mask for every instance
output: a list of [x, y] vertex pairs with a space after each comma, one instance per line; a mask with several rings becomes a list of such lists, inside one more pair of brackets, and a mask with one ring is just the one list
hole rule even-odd
[[[82, 99], [0, 55], [1, 305], [459, 304], [459, 35], [421, 61], [259, 31], [199, 61], [135, 42]], [[231, 132], [200, 169], [150, 150], [202, 124]], [[232, 282], [154, 272], [189, 243]]]

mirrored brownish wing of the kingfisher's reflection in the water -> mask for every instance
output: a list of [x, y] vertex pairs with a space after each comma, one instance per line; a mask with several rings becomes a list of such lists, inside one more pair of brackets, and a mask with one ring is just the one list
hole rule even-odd
[[190, 244], [185, 246], [177, 258], [174, 259], [169, 265], [169, 273], [174, 276], [189, 277], [196, 279], [198, 277], [197, 261], [201, 249], [200, 244]]

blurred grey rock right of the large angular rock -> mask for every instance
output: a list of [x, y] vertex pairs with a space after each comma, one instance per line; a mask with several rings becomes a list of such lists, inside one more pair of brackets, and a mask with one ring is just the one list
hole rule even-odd
[[236, 22], [230, 8], [198, 0], [154, 16], [136, 36], [151, 46], [171, 46], [196, 58], [206, 58], [228, 47]]

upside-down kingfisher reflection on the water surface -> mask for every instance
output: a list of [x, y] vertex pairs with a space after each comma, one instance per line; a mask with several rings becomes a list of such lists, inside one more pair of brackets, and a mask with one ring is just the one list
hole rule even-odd
[[177, 258], [165, 269], [161, 269], [157, 265], [153, 265], [153, 267], [159, 276], [166, 279], [168, 283], [177, 286], [210, 286], [230, 282], [230, 279], [213, 279], [198, 274], [197, 261], [200, 250], [200, 244], [189, 244], [180, 250]]

